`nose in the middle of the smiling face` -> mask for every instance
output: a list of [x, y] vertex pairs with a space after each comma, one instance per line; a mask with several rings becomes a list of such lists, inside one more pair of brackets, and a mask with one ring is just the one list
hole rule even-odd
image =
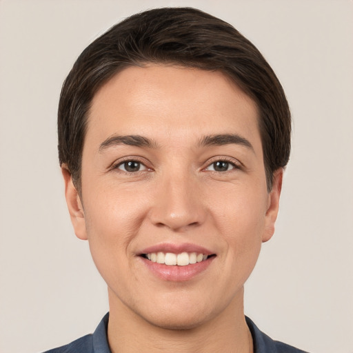
[[206, 217], [202, 187], [196, 177], [165, 175], [154, 192], [150, 219], [157, 227], [185, 232], [200, 226]]

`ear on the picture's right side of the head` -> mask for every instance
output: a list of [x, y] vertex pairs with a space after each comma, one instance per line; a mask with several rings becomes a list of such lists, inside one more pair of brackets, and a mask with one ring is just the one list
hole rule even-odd
[[279, 213], [279, 196], [281, 196], [283, 179], [283, 168], [279, 168], [274, 172], [272, 190], [268, 194], [268, 209], [265, 214], [265, 230], [263, 232], [262, 241], [269, 241], [274, 234], [274, 223], [276, 223], [277, 214]]

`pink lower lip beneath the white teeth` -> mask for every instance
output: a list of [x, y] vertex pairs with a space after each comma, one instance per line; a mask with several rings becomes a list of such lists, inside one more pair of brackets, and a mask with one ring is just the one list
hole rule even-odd
[[215, 256], [212, 256], [207, 260], [186, 266], [165, 265], [164, 263], [152, 262], [143, 257], [141, 257], [141, 259], [147, 266], [148, 270], [160, 279], [163, 279], [164, 281], [183, 282], [190, 281], [198, 274], [204, 272], [212, 263], [214, 257]]

